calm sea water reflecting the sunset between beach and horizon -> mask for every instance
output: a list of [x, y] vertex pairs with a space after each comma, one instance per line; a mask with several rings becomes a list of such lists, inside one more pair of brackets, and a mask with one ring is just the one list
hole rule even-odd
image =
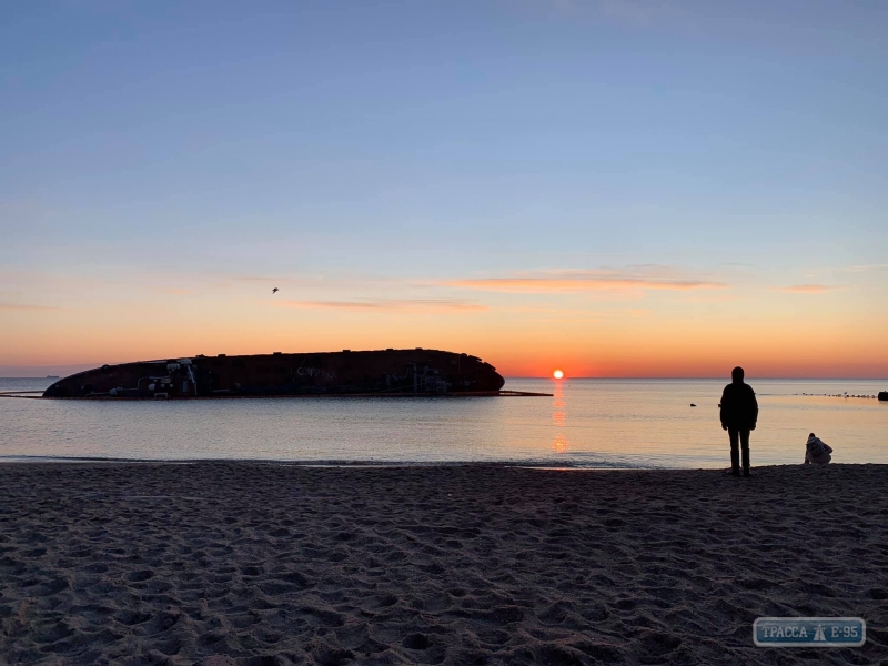
[[[0, 380], [0, 391], [50, 380]], [[554, 397], [254, 398], [93, 402], [0, 398], [0, 460], [250, 458], [583, 467], [724, 467], [725, 381], [508, 380]], [[817, 433], [834, 461], [888, 463], [888, 381], [749, 382], [760, 417], [753, 464], [800, 463]], [[692, 407], [690, 403], [697, 406]]]

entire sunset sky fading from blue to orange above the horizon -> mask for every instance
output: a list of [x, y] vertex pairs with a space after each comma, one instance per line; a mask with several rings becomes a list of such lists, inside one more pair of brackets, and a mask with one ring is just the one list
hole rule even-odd
[[875, 0], [2, 3], [0, 375], [888, 377], [886, 34]]

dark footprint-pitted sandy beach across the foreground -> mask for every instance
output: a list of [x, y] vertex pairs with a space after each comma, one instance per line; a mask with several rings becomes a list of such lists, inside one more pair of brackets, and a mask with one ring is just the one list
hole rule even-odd
[[888, 663], [888, 467], [754, 472], [0, 465], [0, 664]]

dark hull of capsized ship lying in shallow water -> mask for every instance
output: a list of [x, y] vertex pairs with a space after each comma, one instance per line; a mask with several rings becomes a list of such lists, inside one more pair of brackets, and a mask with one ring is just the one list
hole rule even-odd
[[43, 397], [200, 398], [285, 395], [498, 395], [504, 380], [476, 356], [437, 350], [198, 356], [103, 365]]

